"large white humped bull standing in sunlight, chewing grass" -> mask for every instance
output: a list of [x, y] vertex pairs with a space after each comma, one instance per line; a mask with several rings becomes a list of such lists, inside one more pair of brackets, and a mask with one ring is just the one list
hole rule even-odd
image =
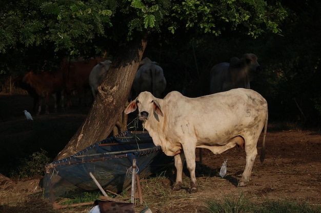
[[182, 149], [191, 176], [190, 193], [197, 192], [196, 148], [207, 148], [217, 155], [235, 145], [244, 146], [246, 166], [238, 186], [245, 186], [257, 155], [257, 140], [265, 126], [261, 153], [261, 161], [264, 160], [268, 104], [254, 90], [237, 88], [198, 98], [172, 91], [164, 99], [145, 91], [128, 105], [125, 113], [137, 107], [138, 117], [155, 146], [174, 156], [177, 174], [173, 190], [179, 190], [183, 184]]

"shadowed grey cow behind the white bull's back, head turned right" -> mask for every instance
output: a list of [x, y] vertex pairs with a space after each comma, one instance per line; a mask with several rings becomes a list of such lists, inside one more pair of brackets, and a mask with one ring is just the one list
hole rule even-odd
[[256, 55], [244, 54], [241, 59], [233, 57], [230, 63], [219, 63], [210, 72], [210, 92], [222, 92], [233, 88], [250, 88], [253, 76], [262, 70]]

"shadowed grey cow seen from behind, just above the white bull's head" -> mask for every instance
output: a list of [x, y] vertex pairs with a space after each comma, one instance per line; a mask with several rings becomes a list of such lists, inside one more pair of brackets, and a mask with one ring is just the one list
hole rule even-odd
[[135, 99], [142, 91], [149, 91], [155, 97], [160, 98], [166, 88], [163, 68], [147, 57], [139, 65], [129, 99]]

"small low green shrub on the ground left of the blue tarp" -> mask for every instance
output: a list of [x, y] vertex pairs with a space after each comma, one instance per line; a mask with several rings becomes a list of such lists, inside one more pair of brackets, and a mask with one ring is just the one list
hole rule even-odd
[[11, 177], [32, 178], [40, 177], [45, 174], [45, 165], [52, 159], [48, 157], [48, 152], [41, 149], [39, 152], [32, 153], [29, 158], [20, 160], [20, 165], [11, 172]]

